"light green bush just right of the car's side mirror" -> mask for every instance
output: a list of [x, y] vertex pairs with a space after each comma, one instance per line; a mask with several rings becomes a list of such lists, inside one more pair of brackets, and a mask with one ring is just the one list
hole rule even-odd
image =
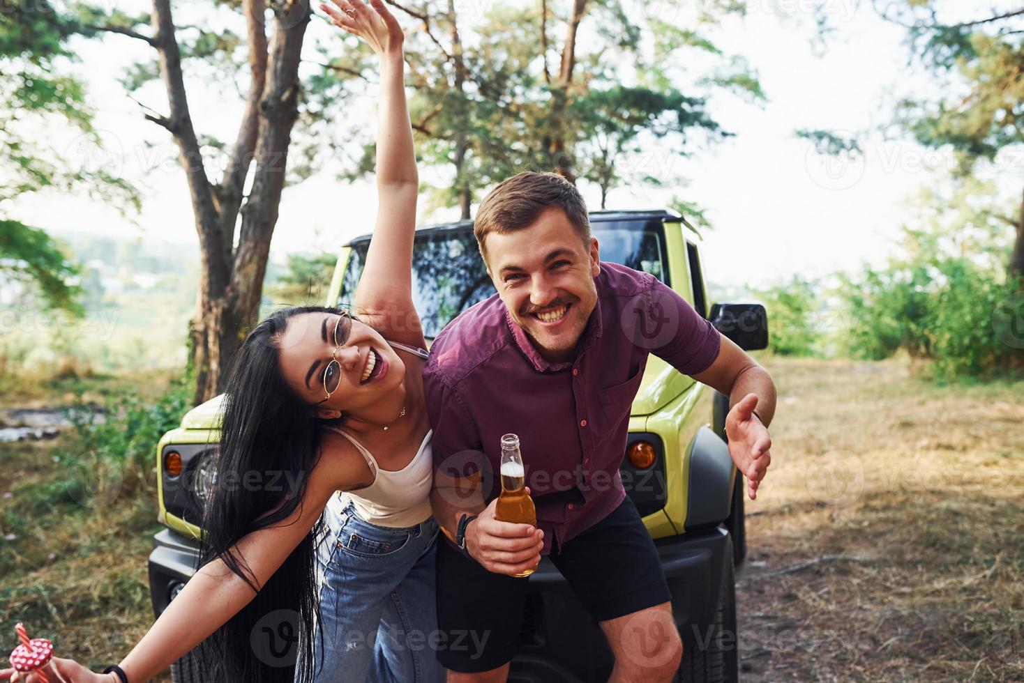
[[799, 275], [758, 292], [768, 312], [768, 348], [779, 356], [821, 355], [821, 332], [814, 323], [820, 302], [816, 282]]

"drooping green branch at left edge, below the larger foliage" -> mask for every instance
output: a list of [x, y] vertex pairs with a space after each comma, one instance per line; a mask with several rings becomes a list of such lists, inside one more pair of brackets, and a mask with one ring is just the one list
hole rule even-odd
[[0, 220], [0, 275], [34, 283], [50, 308], [75, 316], [83, 313], [77, 301], [82, 287], [75, 281], [80, 268], [42, 230]]

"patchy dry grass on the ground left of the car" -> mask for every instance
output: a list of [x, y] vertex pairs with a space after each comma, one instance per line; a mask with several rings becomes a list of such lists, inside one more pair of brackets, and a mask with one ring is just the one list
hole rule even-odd
[[[152, 379], [137, 391], [156, 396], [167, 385], [167, 376]], [[99, 401], [126, 386], [137, 384], [120, 376], [23, 378], [0, 407]], [[146, 557], [161, 529], [156, 491], [135, 481], [108, 504], [76, 503], [66, 484], [73, 440], [66, 430], [52, 441], [0, 444], [0, 666], [17, 644], [18, 621], [33, 637], [50, 638], [58, 656], [93, 671], [120, 662], [153, 623]]]

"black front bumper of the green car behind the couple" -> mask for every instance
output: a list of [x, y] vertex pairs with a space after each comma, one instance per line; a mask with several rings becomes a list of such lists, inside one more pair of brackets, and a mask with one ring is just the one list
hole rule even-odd
[[[175, 588], [195, 573], [199, 543], [169, 529], [154, 537], [150, 554], [150, 591], [159, 617]], [[654, 542], [672, 592], [672, 609], [683, 647], [694, 647], [711, 624], [723, 563], [732, 561], [732, 539], [723, 527]], [[606, 681], [611, 651], [600, 627], [572, 594], [547, 557], [529, 579], [519, 654], [512, 663], [512, 683], [583, 683]]]

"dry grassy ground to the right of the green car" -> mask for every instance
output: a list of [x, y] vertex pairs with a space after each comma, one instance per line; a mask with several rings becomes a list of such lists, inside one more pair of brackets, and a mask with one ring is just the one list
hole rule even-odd
[[779, 409], [746, 507], [741, 680], [1024, 680], [1024, 383], [766, 365]]

